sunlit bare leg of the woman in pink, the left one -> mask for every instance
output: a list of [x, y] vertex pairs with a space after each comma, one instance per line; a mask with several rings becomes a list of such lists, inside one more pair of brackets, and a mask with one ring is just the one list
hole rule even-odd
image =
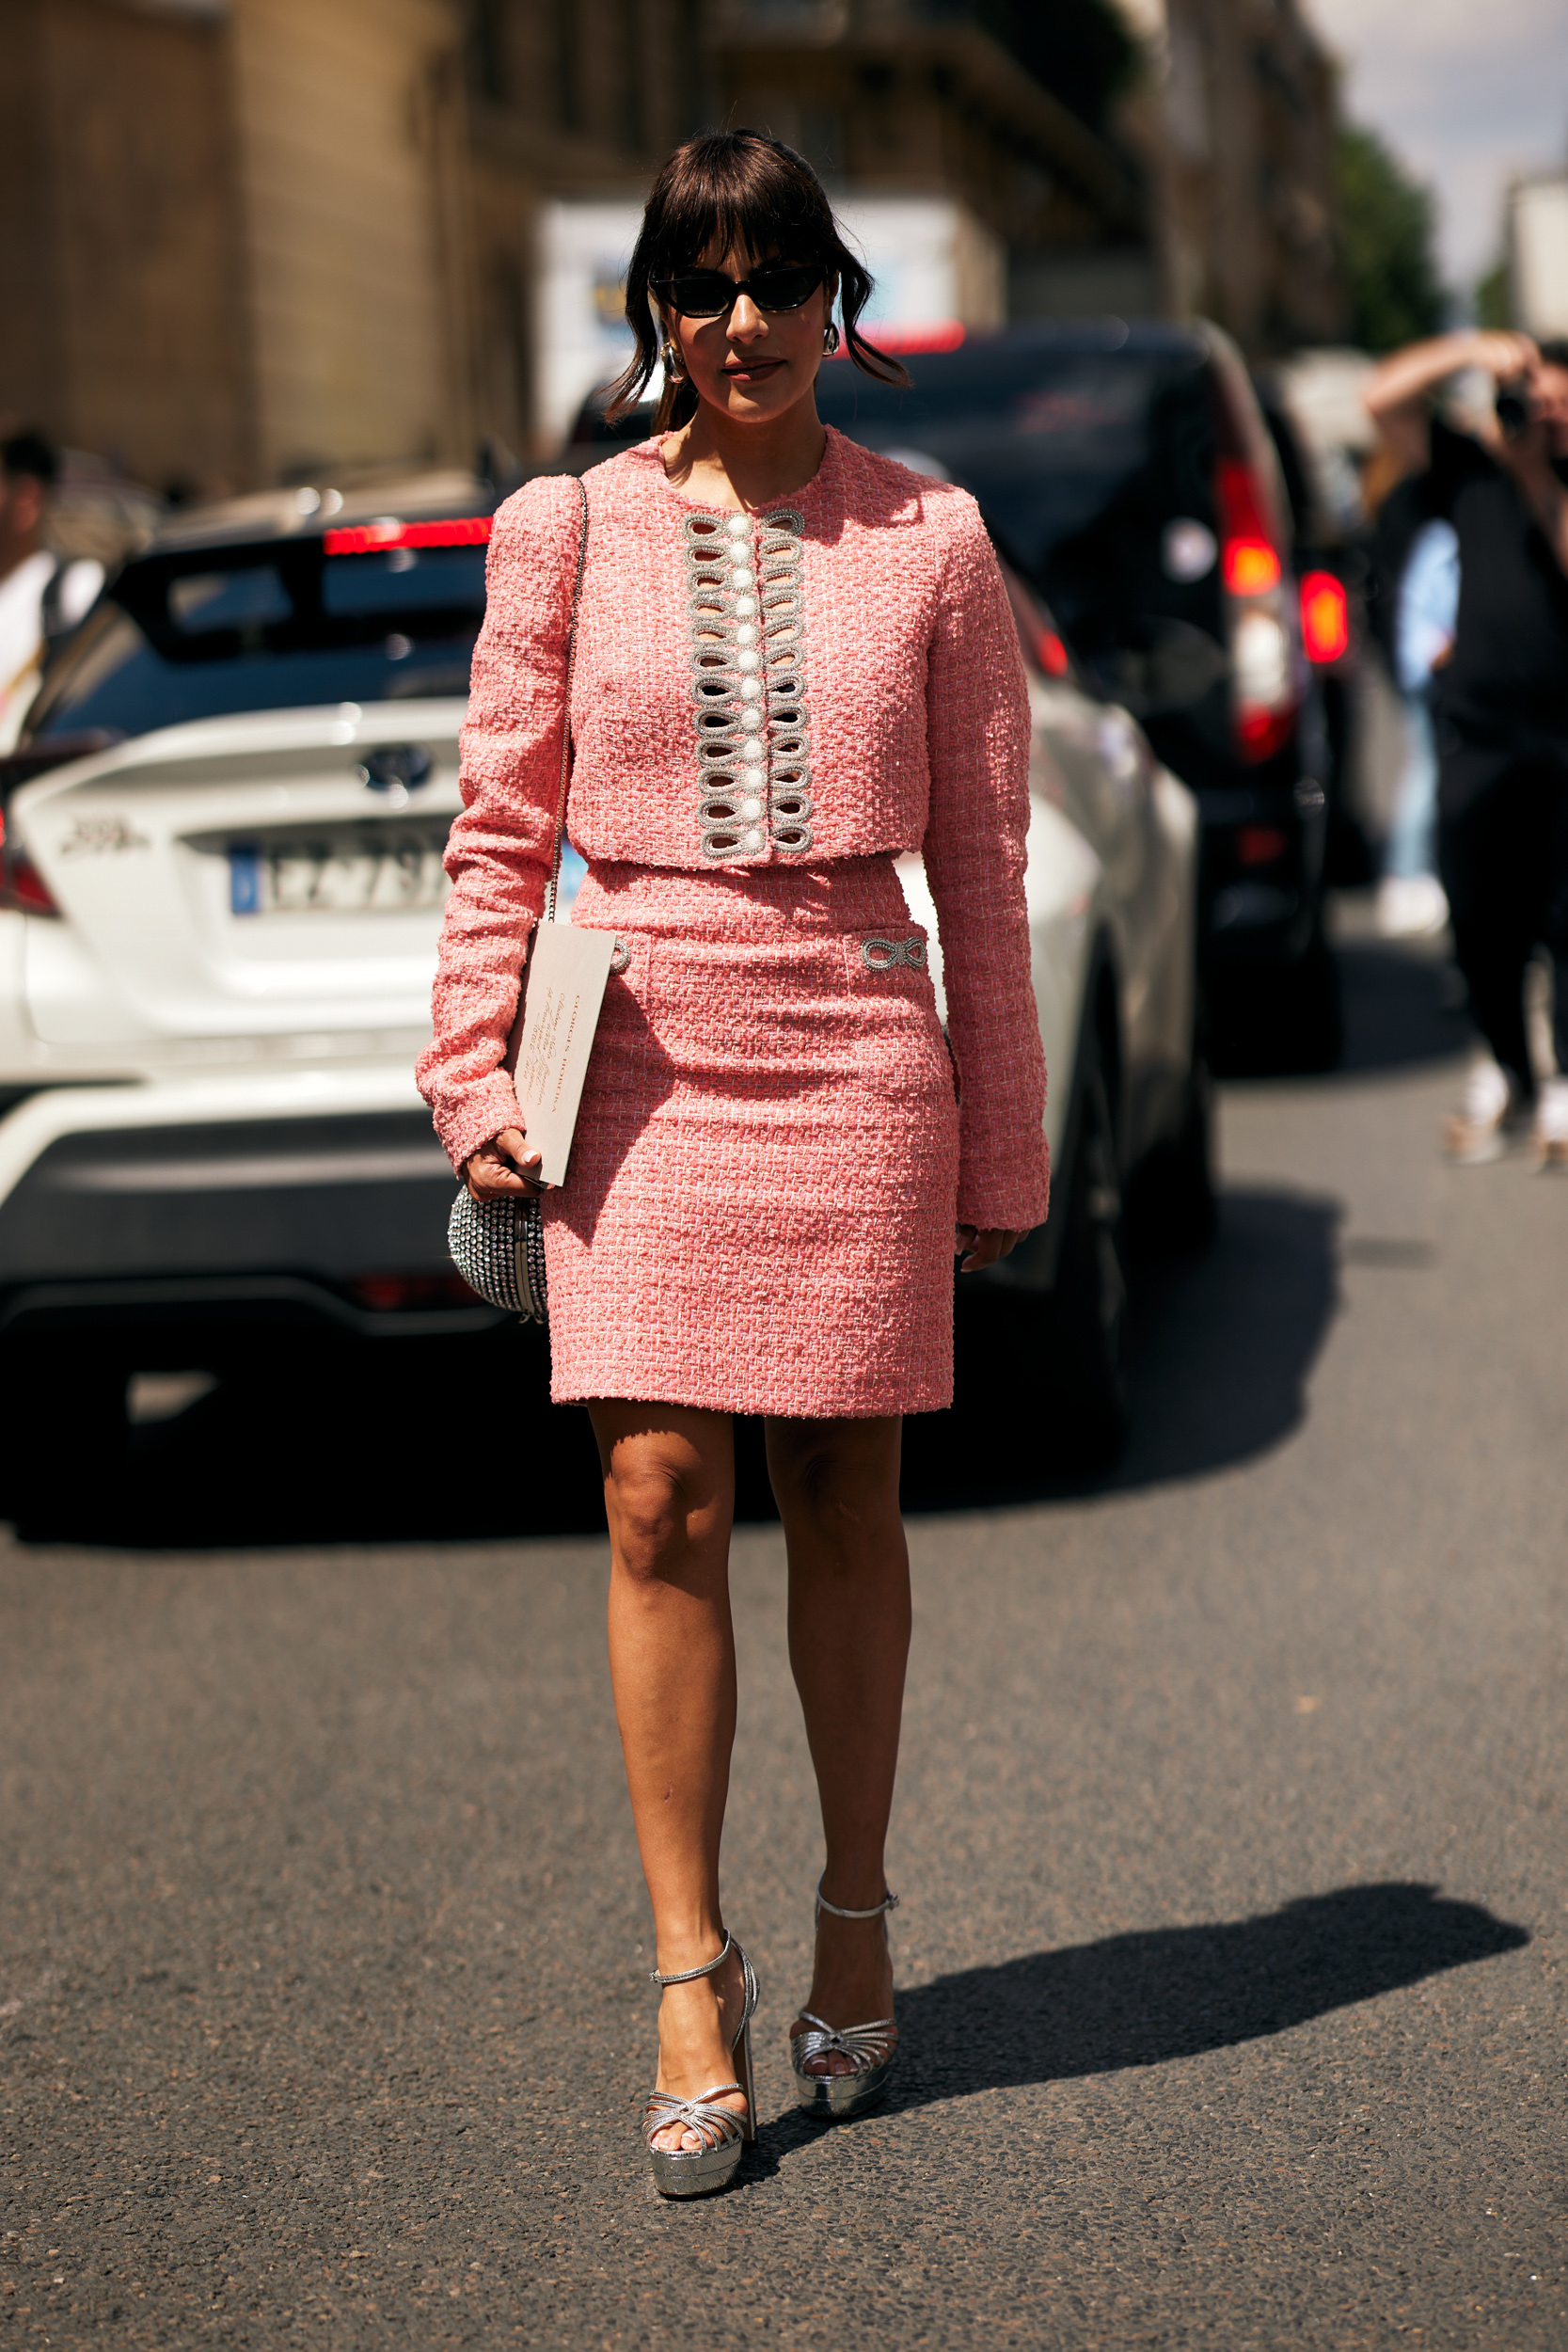
[[[729, 1529], [736, 1454], [729, 1414], [679, 1404], [588, 1406], [609, 1519], [609, 1672], [654, 1903], [658, 1969], [696, 1969], [724, 1943], [719, 1837], [736, 1738], [736, 1637]], [[736, 2079], [741, 1962], [668, 1985], [658, 2009], [658, 2084], [696, 2098]], [[724, 2105], [745, 2110], [745, 2098]], [[661, 2147], [701, 2147], [670, 2126]]]

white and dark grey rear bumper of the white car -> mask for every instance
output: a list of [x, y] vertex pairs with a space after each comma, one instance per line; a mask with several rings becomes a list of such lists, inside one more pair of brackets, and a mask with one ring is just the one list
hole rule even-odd
[[456, 1282], [407, 1070], [35, 1094], [0, 1122], [0, 1334], [503, 1319]]

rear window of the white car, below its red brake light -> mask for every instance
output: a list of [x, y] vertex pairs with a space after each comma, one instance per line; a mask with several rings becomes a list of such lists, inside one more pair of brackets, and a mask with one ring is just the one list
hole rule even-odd
[[129, 562], [49, 668], [28, 739], [468, 694], [484, 546], [324, 550], [322, 539]]

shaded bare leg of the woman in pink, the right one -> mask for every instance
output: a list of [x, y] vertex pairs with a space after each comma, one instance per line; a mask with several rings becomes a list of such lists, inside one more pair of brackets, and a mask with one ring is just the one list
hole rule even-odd
[[[790, 1665], [827, 1837], [823, 1893], [844, 1910], [870, 1910], [886, 1893], [882, 1849], [910, 1656], [900, 1439], [896, 1416], [766, 1425], [790, 1548]], [[891, 2018], [893, 1962], [882, 1919], [820, 1915], [806, 2009], [827, 2025]], [[818, 2060], [818, 2072], [844, 2074], [849, 2058]]]

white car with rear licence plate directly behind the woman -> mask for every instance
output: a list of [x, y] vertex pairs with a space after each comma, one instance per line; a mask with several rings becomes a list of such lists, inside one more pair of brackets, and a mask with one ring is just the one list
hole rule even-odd
[[[66, 1442], [110, 1461], [129, 1369], [221, 1371], [259, 1324], [501, 1319], [447, 1258], [454, 1178], [414, 1087], [491, 503], [428, 477], [167, 529], [0, 767], [0, 1369], [40, 1465]], [[1013, 595], [1058, 1174], [1051, 1223], [987, 1279], [1051, 1294], [1041, 1376], [1110, 1442], [1121, 1181], [1166, 1148], [1206, 1200], [1197, 826]], [[919, 861], [905, 884], [931, 920]]]

